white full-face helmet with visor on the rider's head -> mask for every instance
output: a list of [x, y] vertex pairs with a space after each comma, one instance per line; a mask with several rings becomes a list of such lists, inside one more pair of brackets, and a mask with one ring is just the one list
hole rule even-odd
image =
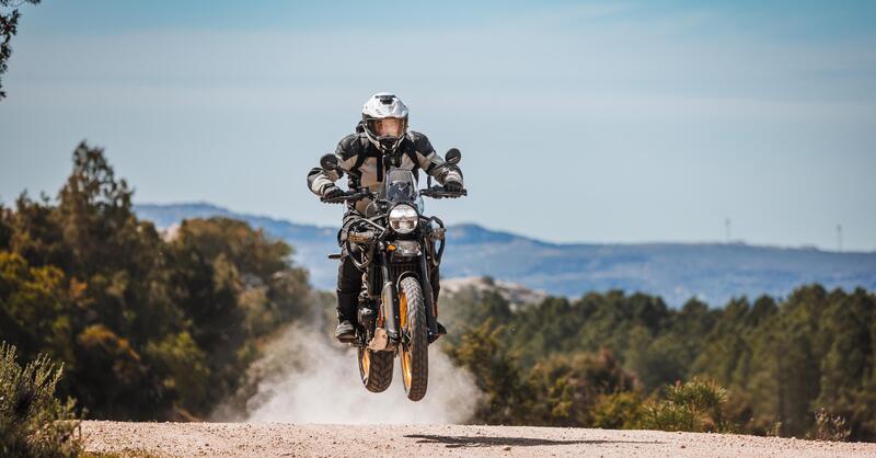
[[383, 152], [393, 152], [407, 131], [407, 106], [389, 92], [371, 95], [362, 106], [365, 135]]

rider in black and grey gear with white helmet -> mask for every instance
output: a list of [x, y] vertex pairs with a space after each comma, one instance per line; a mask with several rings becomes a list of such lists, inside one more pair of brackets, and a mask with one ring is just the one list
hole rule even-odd
[[[338, 165], [348, 175], [348, 187], [358, 190], [368, 187], [379, 192], [385, 168], [388, 165], [414, 171], [423, 169], [433, 175], [446, 191], [462, 191], [462, 172], [456, 165], [437, 168], [445, 163], [443, 158], [435, 152], [425, 135], [407, 129], [407, 106], [392, 93], [378, 92], [368, 99], [362, 106], [362, 121], [356, 126], [356, 133], [344, 137], [335, 149]], [[388, 158], [383, 162], [384, 156]], [[321, 197], [333, 198], [344, 195], [344, 191], [335, 185], [341, 175], [315, 168], [308, 173], [308, 187]], [[370, 199], [348, 203], [344, 214], [339, 238], [345, 237], [346, 229], [356, 215], [364, 215]], [[355, 247], [355, 245], [354, 245]], [[342, 253], [341, 266], [337, 270], [337, 328], [335, 337], [348, 340], [354, 334], [353, 323], [356, 320], [356, 305], [362, 285], [362, 273], [349, 259], [350, 253]], [[438, 272], [433, 272], [431, 284], [434, 298], [438, 300]], [[438, 324], [439, 333], [443, 327]]]

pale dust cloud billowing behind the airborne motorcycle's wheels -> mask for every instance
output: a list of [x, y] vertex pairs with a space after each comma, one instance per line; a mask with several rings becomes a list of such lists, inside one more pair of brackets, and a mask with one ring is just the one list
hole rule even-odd
[[250, 422], [343, 424], [460, 424], [481, 398], [471, 374], [456, 367], [437, 343], [429, 347], [429, 389], [419, 402], [407, 400], [395, 358], [393, 381], [382, 393], [362, 387], [355, 348], [296, 325], [265, 348], [252, 369], [260, 374], [246, 401]]

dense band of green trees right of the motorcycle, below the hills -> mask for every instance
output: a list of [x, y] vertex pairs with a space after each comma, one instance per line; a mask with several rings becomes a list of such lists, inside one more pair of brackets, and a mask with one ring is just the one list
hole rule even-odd
[[[698, 378], [726, 387], [722, 422], [741, 431], [818, 436], [817, 412], [823, 410], [845, 422], [852, 439], [876, 439], [872, 293], [828, 293], [808, 285], [781, 302], [765, 296], [753, 302], [738, 298], [712, 309], [690, 300], [680, 310], [622, 291], [591, 293], [574, 301], [549, 298], [516, 311], [488, 305], [486, 297], [481, 293], [458, 305], [469, 310], [461, 325], [476, 329], [489, 317], [484, 311], [495, 310], [492, 335], [497, 351], [514, 355], [514, 377], [525, 378], [517, 383], [532, 393], [530, 410], [521, 413], [531, 422], [634, 424], [642, 414], [634, 400], [642, 402], [643, 393], [588, 394], [588, 378], [570, 363], [606, 347], [645, 393]], [[660, 402], [657, 394], [646, 404], [662, 405], [652, 413], [666, 415], [665, 421], [691, 413]], [[696, 415], [687, 419], [699, 424]]]

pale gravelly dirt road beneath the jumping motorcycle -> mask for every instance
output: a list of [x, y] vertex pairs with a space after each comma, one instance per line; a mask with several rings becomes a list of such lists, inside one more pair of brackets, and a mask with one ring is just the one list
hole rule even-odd
[[876, 444], [555, 427], [84, 422], [90, 451], [158, 456], [876, 456]]

